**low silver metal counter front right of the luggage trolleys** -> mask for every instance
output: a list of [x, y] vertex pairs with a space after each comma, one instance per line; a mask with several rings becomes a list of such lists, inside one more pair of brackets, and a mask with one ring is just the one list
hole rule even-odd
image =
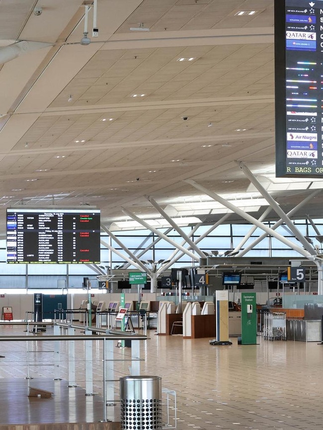
[[321, 342], [321, 320], [286, 320], [286, 339], [288, 341]]

